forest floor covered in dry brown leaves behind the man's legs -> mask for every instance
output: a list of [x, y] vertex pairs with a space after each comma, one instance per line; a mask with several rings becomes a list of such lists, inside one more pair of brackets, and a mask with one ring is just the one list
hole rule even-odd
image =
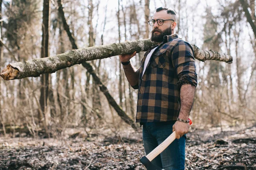
[[[256, 125], [222, 129], [191, 129], [187, 170], [256, 170]], [[0, 170], [145, 170], [143, 156], [141, 131], [131, 129], [114, 134], [102, 128], [61, 139], [0, 135]]]

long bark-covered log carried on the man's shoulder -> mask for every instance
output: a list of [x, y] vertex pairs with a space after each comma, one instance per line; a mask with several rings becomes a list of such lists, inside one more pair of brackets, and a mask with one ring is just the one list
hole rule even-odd
[[[3, 69], [0, 76], [4, 80], [38, 77], [41, 74], [54, 73], [63, 68], [81, 64], [84, 61], [104, 59], [120, 54], [133, 53], [134, 51], [137, 51], [137, 53], [147, 51], [152, 45], [155, 44], [151, 40], [144, 39], [71, 50], [52, 57], [11, 63]], [[217, 60], [227, 63], [233, 61], [230, 55], [220, 54], [212, 50], [203, 51], [196, 45], [192, 45], [192, 47], [195, 51], [195, 58], [200, 61]]]

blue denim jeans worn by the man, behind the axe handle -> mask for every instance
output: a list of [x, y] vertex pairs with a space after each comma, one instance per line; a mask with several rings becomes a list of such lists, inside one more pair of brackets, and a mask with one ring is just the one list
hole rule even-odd
[[[143, 124], [143, 144], [147, 155], [172, 134], [173, 125], [174, 122], [147, 122]], [[184, 170], [185, 141], [185, 135], [180, 139], [175, 139], [151, 163], [164, 170]]]

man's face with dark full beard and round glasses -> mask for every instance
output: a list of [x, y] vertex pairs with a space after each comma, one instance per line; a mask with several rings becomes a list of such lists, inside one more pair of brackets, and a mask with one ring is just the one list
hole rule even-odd
[[[164, 21], [162, 26], [159, 26], [157, 24], [157, 19], [162, 19], [162, 20], [168, 20]], [[163, 37], [165, 35], [171, 35], [172, 34], [172, 23], [173, 21], [170, 20], [173, 19], [172, 15], [167, 14], [166, 10], [155, 12], [152, 20], [155, 20], [156, 22], [154, 23], [154, 26], [151, 31], [151, 41], [154, 42], [162, 42]], [[175, 27], [175, 26], [174, 26]]]

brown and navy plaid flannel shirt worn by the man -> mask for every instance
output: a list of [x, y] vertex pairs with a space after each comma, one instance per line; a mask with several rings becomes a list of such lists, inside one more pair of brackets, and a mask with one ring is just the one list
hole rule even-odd
[[[143, 74], [145, 59], [155, 48]], [[141, 60], [136, 122], [176, 120], [180, 111], [180, 87], [197, 86], [194, 51], [177, 34], [164, 36], [160, 45], [151, 47]], [[143, 74], [143, 75], [142, 75]]]

